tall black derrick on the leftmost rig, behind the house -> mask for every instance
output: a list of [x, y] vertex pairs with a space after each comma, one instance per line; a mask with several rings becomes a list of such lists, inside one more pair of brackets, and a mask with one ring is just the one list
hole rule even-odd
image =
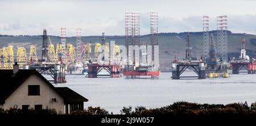
[[44, 29], [43, 31], [43, 45], [42, 45], [42, 61], [48, 60], [48, 43], [47, 43], [47, 31]]

